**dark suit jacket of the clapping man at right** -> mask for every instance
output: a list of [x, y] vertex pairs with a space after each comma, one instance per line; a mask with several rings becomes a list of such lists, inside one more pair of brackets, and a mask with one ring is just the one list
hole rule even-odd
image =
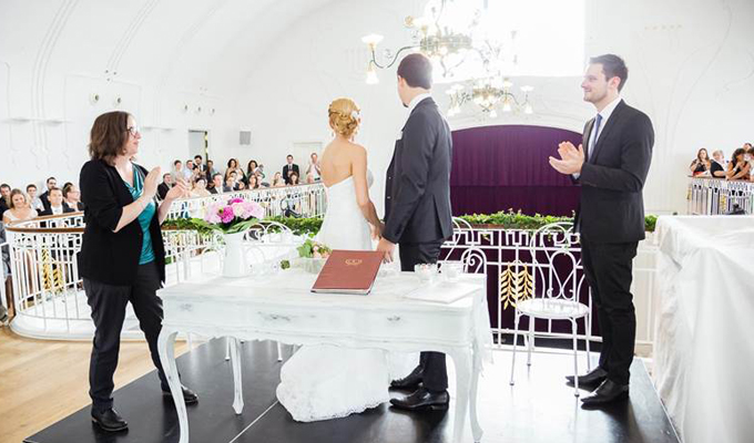
[[652, 161], [654, 130], [650, 117], [621, 101], [590, 146], [594, 119], [583, 133], [579, 231], [592, 243], [630, 243], [644, 239], [642, 189]]

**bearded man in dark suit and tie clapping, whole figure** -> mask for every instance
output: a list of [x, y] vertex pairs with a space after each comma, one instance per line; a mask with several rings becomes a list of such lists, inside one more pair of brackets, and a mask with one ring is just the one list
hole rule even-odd
[[[550, 164], [581, 183], [575, 228], [581, 260], [602, 334], [600, 364], [579, 377], [598, 387], [584, 405], [625, 399], [633, 360], [636, 317], [631, 295], [632, 262], [644, 239], [642, 189], [652, 161], [654, 130], [646, 114], [625, 104], [620, 91], [629, 70], [613, 54], [592, 58], [581, 89], [597, 116], [584, 126], [583, 146], [563, 142]], [[574, 377], [567, 378], [570, 383]]]

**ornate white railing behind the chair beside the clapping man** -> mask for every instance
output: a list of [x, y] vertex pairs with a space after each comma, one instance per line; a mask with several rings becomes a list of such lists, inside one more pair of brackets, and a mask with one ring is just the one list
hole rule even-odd
[[[458, 260], [460, 255], [469, 249], [478, 249], [485, 254], [490, 323], [498, 346], [510, 341], [507, 340], [507, 336], [512, 334], [513, 310], [518, 301], [541, 296], [543, 290], [564, 290], [564, 287], [551, 287], [549, 278], [546, 278], [550, 272], [557, 274], [558, 281], [574, 282], [578, 300], [593, 310], [589, 287], [583, 277], [578, 234], [564, 230], [542, 236], [536, 230], [471, 226], [459, 218], [454, 219], [454, 236], [444, 245], [441, 261]], [[639, 246], [633, 268], [633, 292], [638, 316], [636, 344], [638, 348], [648, 348], [638, 349], [641, 353], [646, 353], [653, 341], [652, 291], [656, 248], [652, 245], [651, 234], [648, 233], [648, 240]], [[553, 259], [554, 256], [559, 258]], [[591, 339], [599, 341], [601, 340], [599, 327], [595, 321], [592, 323]], [[521, 327], [526, 328], [528, 324]], [[548, 320], [536, 321], [534, 332], [537, 337], [571, 337], [570, 323], [559, 324]], [[583, 324], [579, 324], [579, 338], [585, 338]]]

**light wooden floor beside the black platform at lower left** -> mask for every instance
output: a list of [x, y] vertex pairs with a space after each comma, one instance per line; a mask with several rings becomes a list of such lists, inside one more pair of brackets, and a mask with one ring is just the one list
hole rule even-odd
[[[21, 442], [91, 403], [89, 341], [48, 341], [0, 328], [0, 441]], [[187, 350], [176, 342], [176, 354]], [[154, 369], [146, 342], [121, 343], [115, 389]]]

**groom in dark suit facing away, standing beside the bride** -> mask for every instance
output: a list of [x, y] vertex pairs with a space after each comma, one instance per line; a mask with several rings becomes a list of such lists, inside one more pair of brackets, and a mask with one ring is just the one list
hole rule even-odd
[[[393, 260], [400, 245], [400, 267], [412, 271], [418, 264], [434, 264], [440, 247], [452, 235], [450, 213], [450, 159], [452, 141], [448, 122], [430, 95], [432, 65], [420, 53], [409, 54], [398, 66], [398, 95], [409, 109], [385, 182], [385, 227], [377, 250]], [[390, 384], [414, 390], [394, 406], [406, 410], [447, 409], [448, 373], [445, 354], [421, 352], [419, 365]]]

